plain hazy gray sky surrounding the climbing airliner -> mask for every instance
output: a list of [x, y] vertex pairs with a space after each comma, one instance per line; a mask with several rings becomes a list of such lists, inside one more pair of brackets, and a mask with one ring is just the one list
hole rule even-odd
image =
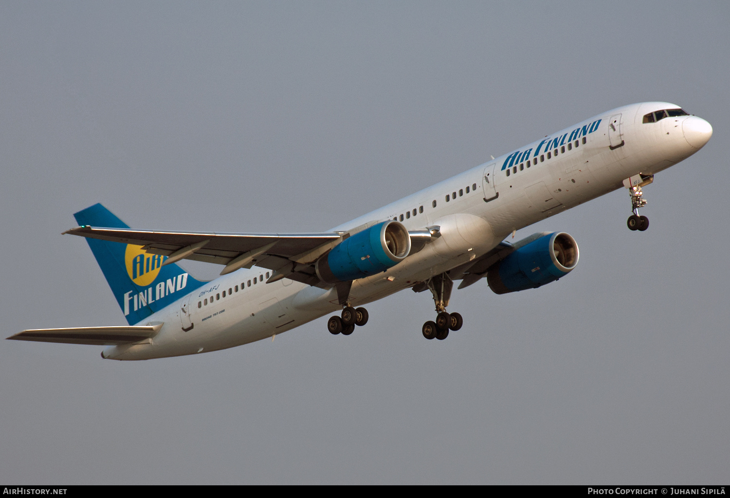
[[[4, 2], [4, 336], [125, 323], [85, 241], [335, 226], [591, 115], [674, 102], [696, 156], [518, 232], [580, 264], [139, 362], [0, 341], [4, 483], [723, 483], [730, 466], [730, 4]], [[516, 240], [516, 239], [515, 239]], [[220, 267], [189, 264], [198, 276]]]

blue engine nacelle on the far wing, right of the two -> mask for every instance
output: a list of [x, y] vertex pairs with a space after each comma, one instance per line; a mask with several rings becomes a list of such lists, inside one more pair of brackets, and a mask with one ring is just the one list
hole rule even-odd
[[521, 245], [487, 272], [496, 294], [537, 288], [567, 275], [578, 264], [578, 245], [568, 234], [556, 231]]

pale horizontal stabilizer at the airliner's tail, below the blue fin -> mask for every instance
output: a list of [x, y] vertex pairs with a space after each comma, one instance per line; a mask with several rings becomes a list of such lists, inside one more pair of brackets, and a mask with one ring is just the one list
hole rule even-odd
[[64, 342], [66, 344], [120, 345], [138, 342], [155, 336], [162, 328], [158, 325], [75, 327], [72, 329], [24, 330], [8, 337], [10, 340], [37, 342]]

